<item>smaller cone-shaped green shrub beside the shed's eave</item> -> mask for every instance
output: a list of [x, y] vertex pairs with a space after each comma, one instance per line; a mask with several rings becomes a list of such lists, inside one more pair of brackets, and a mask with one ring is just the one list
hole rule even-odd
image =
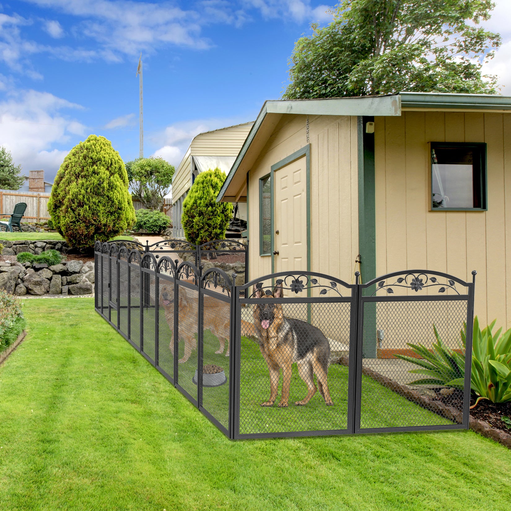
[[229, 221], [233, 218], [233, 204], [217, 202], [217, 195], [225, 181], [225, 173], [218, 167], [201, 172], [183, 201], [181, 223], [184, 236], [190, 243], [201, 245], [207, 241], [222, 240]]

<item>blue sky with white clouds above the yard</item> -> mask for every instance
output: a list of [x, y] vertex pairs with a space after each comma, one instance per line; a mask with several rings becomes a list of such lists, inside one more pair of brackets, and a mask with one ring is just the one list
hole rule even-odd
[[[1, 0], [0, 0], [1, 1]], [[138, 55], [144, 153], [179, 163], [201, 131], [254, 120], [281, 96], [295, 40], [331, 19], [315, 0], [25, 0], [0, 3], [0, 145], [53, 180], [90, 133], [138, 155]], [[331, 5], [333, 5], [332, 2]], [[511, 2], [488, 28], [504, 44], [487, 71], [511, 94]]]

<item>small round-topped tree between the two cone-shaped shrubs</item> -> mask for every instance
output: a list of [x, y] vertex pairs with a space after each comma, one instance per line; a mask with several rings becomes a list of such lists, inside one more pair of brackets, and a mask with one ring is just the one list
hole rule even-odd
[[133, 195], [149, 210], [159, 210], [169, 193], [175, 168], [163, 158], [138, 158], [130, 161], [130, 186]]

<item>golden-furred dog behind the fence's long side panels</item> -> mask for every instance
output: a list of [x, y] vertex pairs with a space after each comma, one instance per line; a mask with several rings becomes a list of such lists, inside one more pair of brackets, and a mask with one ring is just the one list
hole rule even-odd
[[[184, 340], [184, 354], [179, 363], [186, 362], [192, 350], [197, 348], [198, 331], [198, 297], [193, 296], [192, 289], [181, 287], [179, 289], [179, 340]], [[159, 306], [165, 310], [165, 319], [171, 331], [174, 331], [174, 284], [161, 279], [159, 281]], [[225, 339], [229, 338], [229, 304], [217, 300], [212, 296], [204, 296], [204, 330], [210, 330], [219, 340], [220, 347], [215, 353], [223, 353]], [[170, 351], [174, 355], [174, 339], [170, 341]], [[229, 356], [229, 345], [227, 343], [226, 357]]]

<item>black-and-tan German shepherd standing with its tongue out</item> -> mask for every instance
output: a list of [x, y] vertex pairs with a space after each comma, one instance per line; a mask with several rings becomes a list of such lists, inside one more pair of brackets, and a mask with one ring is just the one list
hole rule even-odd
[[[264, 294], [254, 288], [254, 298], [282, 298], [282, 284], [273, 294]], [[288, 406], [292, 364], [296, 362], [298, 374], [307, 385], [307, 396], [295, 405], [306, 405], [316, 393], [314, 375], [324, 402], [333, 405], [328, 388], [327, 374], [330, 361], [330, 343], [324, 334], [306, 321], [284, 316], [282, 305], [273, 302], [257, 304], [253, 309], [254, 327], [259, 349], [270, 373], [270, 399], [261, 406], [272, 406], [278, 393], [278, 380], [282, 369], [282, 396], [280, 407]]]

